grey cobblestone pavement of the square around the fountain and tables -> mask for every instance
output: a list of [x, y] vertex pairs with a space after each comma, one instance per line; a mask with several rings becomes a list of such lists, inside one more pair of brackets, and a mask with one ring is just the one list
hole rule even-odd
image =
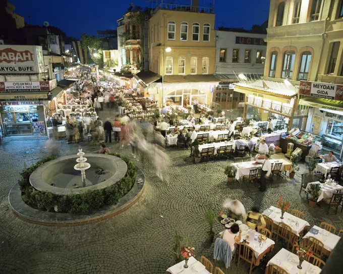
[[[109, 112], [101, 118], [112, 116]], [[82, 144], [85, 152], [98, 151], [97, 145]], [[266, 192], [255, 185], [228, 185], [223, 169], [227, 161], [210, 161], [193, 165], [184, 149], [167, 149], [164, 182], [150, 168], [147, 159], [136, 163], [146, 175], [142, 198], [127, 211], [107, 221], [71, 228], [42, 227], [17, 218], [10, 209], [8, 193], [17, 183], [20, 171], [49, 154], [75, 154], [78, 145], [67, 145], [45, 138], [21, 137], [3, 140], [0, 146], [0, 272], [1, 273], [165, 273], [173, 262], [173, 236], [178, 231], [189, 235], [197, 258], [213, 258], [213, 244], [206, 243], [208, 225], [204, 213], [216, 212], [224, 199], [238, 198], [249, 210], [253, 205], [265, 209], [276, 205], [278, 194], [291, 201], [291, 208], [306, 212], [311, 226], [324, 221], [343, 228], [343, 214], [326, 215], [325, 208], [310, 208], [305, 195], [299, 196], [299, 177], [274, 181]], [[132, 158], [129, 146], [112, 143], [110, 151]], [[169, 183], [169, 186], [167, 186]], [[216, 233], [223, 230], [215, 223]], [[280, 249], [276, 245], [273, 253]], [[213, 260], [212, 260], [213, 261]], [[218, 266], [218, 263], [216, 263]], [[224, 269], [220, 264], [221, 268]], [[248, 263], [234, 264], [230, 273], [248, 273]], [[257, 269], [254, 273], [262, 273]]]

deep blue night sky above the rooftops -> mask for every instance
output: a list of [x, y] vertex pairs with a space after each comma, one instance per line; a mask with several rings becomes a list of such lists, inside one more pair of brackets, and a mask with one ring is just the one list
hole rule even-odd
[[[174, 0], [175, 3], [190, 0]], [[205, 0], [211, 3], [210, 0]], [[64, 31], [67, 36], [80, 38], [83, 32], [96, 35], [97, 30], [117, 29], [117, 20], [123, 17], [130, 3], [149, 6], [148, 0], [10, 0], [16, 7], [15, 13], [25, 22], [43, 25], [49, 22]], [[167, 2], [167, 1], [164, 1]], [[169, 3], [172, 0], [168, 0]], [[268, 19], [269, 0], [215, 0], [216, 28], [220, 26], [250, 29]], [[199, 1], [203, 6], [204, 1]], [[208, 7], [206, 5], [206, 7]], [[28, 15], [31, 18], [28, 18]]]

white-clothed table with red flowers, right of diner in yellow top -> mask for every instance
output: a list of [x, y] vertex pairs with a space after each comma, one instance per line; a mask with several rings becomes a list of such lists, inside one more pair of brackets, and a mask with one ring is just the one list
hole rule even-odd
[[[272, 211], [270, 213], [270, 211]], [[264, 212], [262, 213], [262, 215], [265, 214], [267, 215], [269, 218], [271, 218], [271, 220], [273, 220], [274, 224], [276, 226], [278, 226], [279, 223], [284, 223], [288, 226], [290, 226], [292, 228], [292, 233], [294, 233], [295, 235], [297, 235], [299, 237], [299, 234], [304, 231], [307, 227], [310, 226], [310, 224], [301, 219], [298, 218], [288, 212], [284, 212], [283, 214], [283, 219], [281, 219], [281, 209], [276, 208], [275, 206], [270, 206], [269, 207], [269, 211], [268, 210], [264, 210]]]

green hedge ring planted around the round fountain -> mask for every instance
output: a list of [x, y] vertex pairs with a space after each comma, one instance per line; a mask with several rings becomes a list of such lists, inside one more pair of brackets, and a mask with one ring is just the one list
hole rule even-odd
[[121, 157], [117, 153], [109, 155], [122, 158], [128, 166], [126, 175], [116, 184], [104, 189], [93, 189], [80, 194], [70, 194], [65, 196], [54, 195], [51, 192], [36, 190], [30, 184], [30, 175], [43, 163], [55, 159], [56, 157], [43, 158], [35, 165], [22, 171], [22, 178], [19, 186], [22, 191], [24, 202], [36, 209], [50, 212], [79, 213], [89, 212], [99, 209], [106, 205], [118, 203], [119, 199], [127, 194], [136, 181], [137, 168], [132, 161]]

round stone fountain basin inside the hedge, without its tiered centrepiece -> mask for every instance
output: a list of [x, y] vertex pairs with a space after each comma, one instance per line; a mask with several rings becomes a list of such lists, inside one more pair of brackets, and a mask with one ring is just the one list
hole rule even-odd
[[[97, 153], [86, 153], [84, 156], [87, 157], [87, 163], [84, 165], [90, 165], [85, 171], [86, 187], [82, 187], [80, 171], [74, 169], [75, 161], [79, 158], [77, 155], [64, 156], [44, 163], [31, 174], [30, 184], [37, 190], [49, 191], [55, 195], [78, 194], [116, 184], [127, 172], [126, 162], [119, 157]], [[104, 170], [104, 174], [96, 177], [95, 171], [98, 169]], [[75, 188], [75, 185], [79, 188]]]

